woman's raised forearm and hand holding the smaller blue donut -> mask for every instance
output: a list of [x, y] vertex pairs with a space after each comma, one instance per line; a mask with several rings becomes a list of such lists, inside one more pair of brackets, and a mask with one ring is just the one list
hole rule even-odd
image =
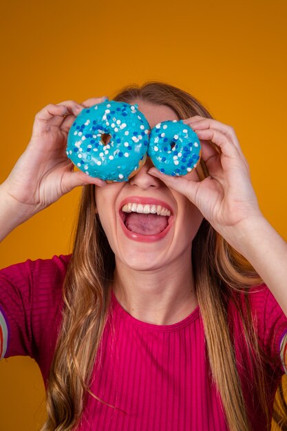
[[[198, 134], [210, 176], [200, 182], [149, 173], [180, 191], [262, 277], [287, 316], [287, 244], [259, 210], [248, 163], [233, 127], [194, 116], [184, 120]], [[211, 145], [211, 142], [214, 145]]]

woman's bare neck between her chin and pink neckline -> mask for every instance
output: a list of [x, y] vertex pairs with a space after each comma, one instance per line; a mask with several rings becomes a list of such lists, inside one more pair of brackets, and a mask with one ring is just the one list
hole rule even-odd
[[113, 291], [127, 313], [155, 325], [180, 322], [198, 306], [190, 254], [153, 271], [116, 260]]

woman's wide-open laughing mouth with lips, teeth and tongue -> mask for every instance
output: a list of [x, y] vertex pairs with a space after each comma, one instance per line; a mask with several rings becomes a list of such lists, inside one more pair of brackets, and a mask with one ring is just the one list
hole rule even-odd
[[130, 238], [158, 240], [169, 231], [173, 216], [163, 205], [126, 202], [120, 208], [120, 218]]

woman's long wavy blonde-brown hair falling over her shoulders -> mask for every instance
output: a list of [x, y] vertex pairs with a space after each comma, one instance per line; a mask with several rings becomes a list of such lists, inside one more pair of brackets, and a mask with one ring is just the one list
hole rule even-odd
[[[125, 87], [112, 99], [168, 105], [179, 118], [194, 115], [212, 118], [189, 93], [156, 81], [141, 87]], [[209, 175], [203, 161], [197, 169], [201, 179]], [[98, 399], [89, 390], [89, 383], [109, 313], [115, 258], [95, 213], [94, 186], [87, 185], [83, 187], [74, 249], [63, 286], [63, 319], [47, 384], [47, 420], [41, 431], [72, 430], [81, 419], [87, 395]], [[242, 319], [246, 347], [255, 368], [255, 391], [268, 421], [256, 322], [251, 317], [248, 295], [244, 311], [236, 295], [261, 284], [262, 280], [206, 220], [193, 240], [191, 260], [211, 374], [228, 427], [231, 431], [251, 431], [237, 372], [233, 334], [227, 322], [227, 305], [232, 301]]]

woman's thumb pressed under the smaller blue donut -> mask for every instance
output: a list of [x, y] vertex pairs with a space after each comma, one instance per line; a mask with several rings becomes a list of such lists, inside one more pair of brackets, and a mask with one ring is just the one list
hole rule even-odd
[[155, 167], [151, 167], [148, 174], [156, 176], [159, 180], [163, 181], [167, 187], [179, 191], [182, 195], [186, 196], [193, 204], [195, 204], [196, 192], [198, 191], [199, 183], [197, 181], [187, 180], [184, 176], [171, 176], [162, 174]]

